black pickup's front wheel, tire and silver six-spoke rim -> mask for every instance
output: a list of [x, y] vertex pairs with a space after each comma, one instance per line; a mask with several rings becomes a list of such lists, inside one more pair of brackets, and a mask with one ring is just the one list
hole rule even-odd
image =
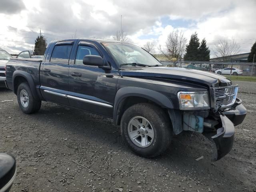
[[162, 154], [170, 145], [172, 127], [160, 107], [140, 103], [124, 112], [121, 118], [121, 134], [133, 152], [152, 158]]

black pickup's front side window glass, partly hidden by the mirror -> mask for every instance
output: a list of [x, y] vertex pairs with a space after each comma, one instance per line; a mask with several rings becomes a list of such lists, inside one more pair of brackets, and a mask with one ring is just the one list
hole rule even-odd
[[76, 52], [76, 65], [84, 65], [83, 64], [83, 59], [84, 56], [86, 55], [98, 55], [100, 56], [100, 53], [93, 47], [90, 46], [84, 46], [84, 45], [79, 45], [77, 52]]

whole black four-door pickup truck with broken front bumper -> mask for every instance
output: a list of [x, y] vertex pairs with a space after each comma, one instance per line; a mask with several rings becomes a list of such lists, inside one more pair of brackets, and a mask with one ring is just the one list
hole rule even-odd
[[26, 114], [49, 101], [112, 118], [131, 150], [149, 158], [189, 130], [208, 137], [219, 160], [246, 116], [238, 86], [224, 76], [164, 67], [144, 49], [112, 40], [50, 42], [41, 60], [11, 59], [6, 85]]

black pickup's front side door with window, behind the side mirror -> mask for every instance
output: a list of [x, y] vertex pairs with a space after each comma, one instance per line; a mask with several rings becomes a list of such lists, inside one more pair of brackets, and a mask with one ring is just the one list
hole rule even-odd
[[74, 64], [70, 65], [68, 100], [70, 106], [108, 117], [113, 115], [117, 70], [105, 71], [83, 64], [86, 55], [102, 56], [94, 44], [80, 42]]

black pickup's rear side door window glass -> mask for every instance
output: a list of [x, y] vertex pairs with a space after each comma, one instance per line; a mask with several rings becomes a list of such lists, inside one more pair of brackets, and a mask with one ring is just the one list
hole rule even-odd
[[68, 64], [72, 45], [58, 45], [52, 51], [50, 62]]

